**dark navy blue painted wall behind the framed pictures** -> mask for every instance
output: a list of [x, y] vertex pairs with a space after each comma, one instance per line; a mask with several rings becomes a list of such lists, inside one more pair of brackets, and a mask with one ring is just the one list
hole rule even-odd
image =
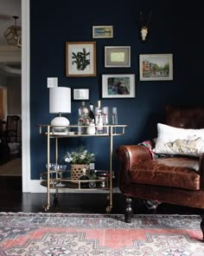
[[[46, 138], [39, 135], [36, 125], [48, 124], [54, 117], [48, 111], [47, 77], [58, 77], [59, 86], [90, 89], [90, 102], [94, 105], [101, 100], [102, 106], [118, 108], [119, 123], [128, 124], [129, 128], [124, 136], [115, 139], [114, 151], [119, 144], [156, 137], [156, 123], [164, 121], [167, 104], [202, 104], [203, 15], [195, 2], [183, 6], [179, 1], [30, 0], [31, 179], [39, 179], [47, 157]], [[152, 10], [150, 37], [146, 43], [138, 37], [140, 10], [144, 19]], [[92, 25], [113, 25], [113, 38], [92, 39]], [[65, 43], [89, 41], [97, 42], [97, 76], [67, 77]], [[105, 68], [104, 47], [112, 45], [131, 46], [131, 68]], [[140, 82], [139, 54], [156, 53], [173, 54], [173, 81]], [[136, 74], [136, 97], [101, 99], [101, 75], [125, 73]], [[67, 115], [73, 124], [77, 121], [79, 106], [80, 102], [72, 102], [72, 114]], [[97, 153], [96, 167], [108, 167], [108, 139], [79, 138], [61, 143], [62, 151], [65, 145], [67, 148], [86, 145]], [[117, 167], [115, 158], [113, 165]]]

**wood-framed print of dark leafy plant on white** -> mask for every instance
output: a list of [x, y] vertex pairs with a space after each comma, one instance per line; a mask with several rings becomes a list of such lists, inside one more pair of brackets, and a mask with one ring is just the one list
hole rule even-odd
[[96, 42], [66, 42], [66, 75], [96, 76]]

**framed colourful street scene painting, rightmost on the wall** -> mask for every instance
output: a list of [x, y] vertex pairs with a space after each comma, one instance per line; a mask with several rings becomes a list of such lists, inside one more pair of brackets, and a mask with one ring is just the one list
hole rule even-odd
[[140, 55], [139, 76], [140, 81], [173, 80], [173, 55]]

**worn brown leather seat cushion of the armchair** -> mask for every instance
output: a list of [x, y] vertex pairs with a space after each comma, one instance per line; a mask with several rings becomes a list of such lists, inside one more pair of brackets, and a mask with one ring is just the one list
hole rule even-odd
[[130, 170], [133, 183], [200, 189], [199, 160], [186, 157], [159, 158], [137, 163]]

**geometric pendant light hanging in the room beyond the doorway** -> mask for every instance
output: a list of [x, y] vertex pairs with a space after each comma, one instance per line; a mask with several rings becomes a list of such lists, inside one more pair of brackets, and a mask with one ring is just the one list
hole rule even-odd
[[7, 43], [10, 45], [16, 45], [17, 47], [22, 46], [22, 28], [16, 25], [16, 20], [19, 18], [18, 16], [13, 16], [14, 25], [10, 26], [5, 32], [4, 36], [6, 38]]

